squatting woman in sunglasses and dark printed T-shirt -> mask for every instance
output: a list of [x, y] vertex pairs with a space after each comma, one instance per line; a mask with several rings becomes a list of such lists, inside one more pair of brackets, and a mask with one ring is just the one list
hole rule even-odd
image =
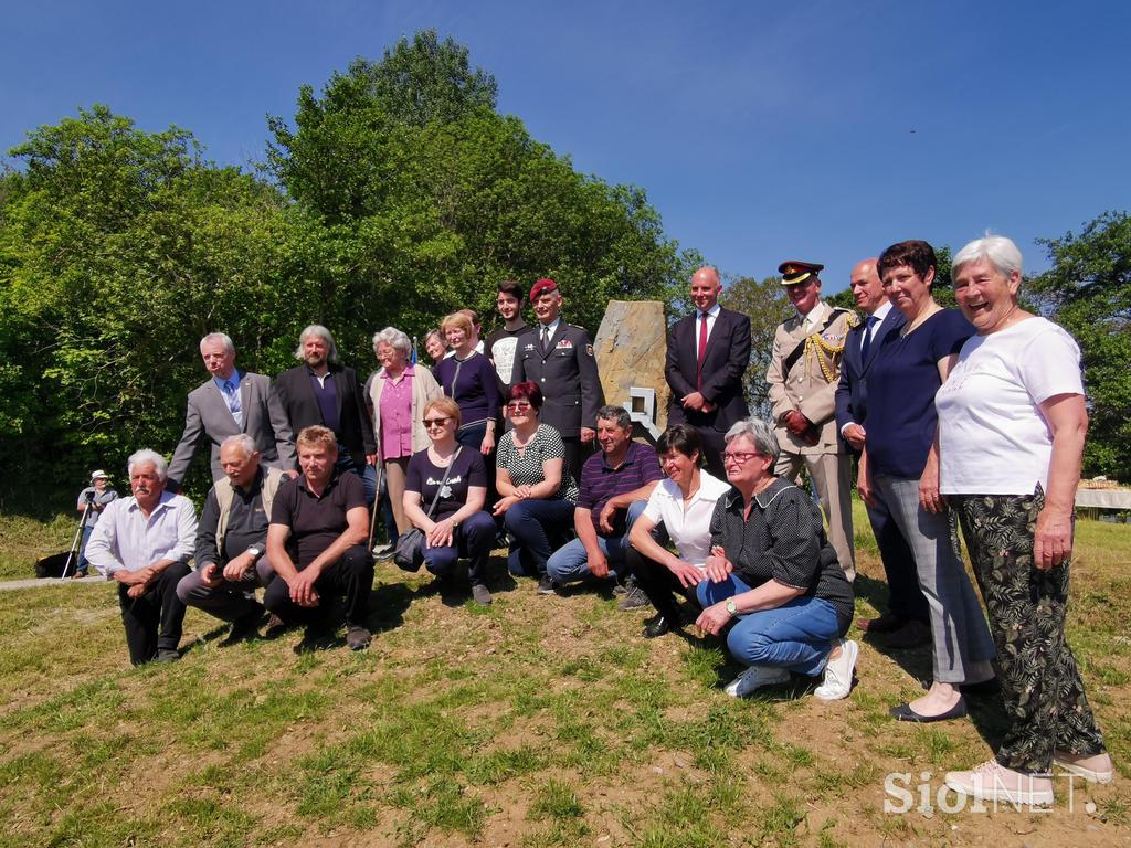
[[472, 597], [486, 606], [491, 603], [486, 564], [495, 526], [483, 511], [487, 493], [483, 457], [456, 441], [459, 405], [451, 398], [435, 398], [424, 406], [424, 427], [432, 444], [408, 460], [405, 514], [424, 533], [424, 566], [447, 579], [456, 561], [466, 556]]

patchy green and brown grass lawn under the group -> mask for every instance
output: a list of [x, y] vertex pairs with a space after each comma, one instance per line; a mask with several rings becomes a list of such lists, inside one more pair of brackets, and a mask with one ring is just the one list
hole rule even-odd
[[[3, 574], [69, 526], [0, 521]], [[929, 772], [933, 801], [1001, 733], [993, 699], [942, 726], [888, 718], [925, 651], [864, 646], [846, 701], [797, 683], [739, 702], [717, 642], [645, 641], [611, 597], [541, 597], [497, 560], [486, 611], [379, 566], [368, 651], [223, 647], [192, 612], [182, 661], [140, 669], [111, 586], [0, 592], [0, 846], [1126, 845], [1131, 527], [1078, 530], [1070, 637], [1119, 777], [1071, 805], [1059, 781], [1051, 813], [884, 812], [887, 776]], [[871, 613], [881, 572], [857, 542]]]

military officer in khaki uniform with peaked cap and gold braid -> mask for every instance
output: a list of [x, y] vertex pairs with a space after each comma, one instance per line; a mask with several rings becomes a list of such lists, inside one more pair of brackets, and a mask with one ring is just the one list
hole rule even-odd
[[856, 576], [852, 539], [852, 466], [835, 417], [840, 360], [848, 330], [860, 323], [852, 310], [821, 302], [823, 265], [789, 261], [778, 266], [796, 314], [774, 334], [766, 381], [782, 452], [774, 473], [794, 479], [804, 464], [829, 522], [829, 542], [852, 580]]

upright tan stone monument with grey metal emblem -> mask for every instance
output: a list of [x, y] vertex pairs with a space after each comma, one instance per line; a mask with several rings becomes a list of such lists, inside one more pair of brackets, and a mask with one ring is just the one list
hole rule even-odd
[[667, 320], [659, 301], [610, 301], [593, 340], [605, 403], [629, 410], [653, 443], [667, 426]]

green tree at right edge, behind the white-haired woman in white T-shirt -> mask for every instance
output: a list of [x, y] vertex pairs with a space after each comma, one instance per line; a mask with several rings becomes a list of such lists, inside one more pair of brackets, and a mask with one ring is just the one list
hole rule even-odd
[[1033, 279], [1042, 311], [1080, 345], [1090, 424], [1085, 474], [1131, 481], [1131, 216], [1042, 239], [1053, 267]]

